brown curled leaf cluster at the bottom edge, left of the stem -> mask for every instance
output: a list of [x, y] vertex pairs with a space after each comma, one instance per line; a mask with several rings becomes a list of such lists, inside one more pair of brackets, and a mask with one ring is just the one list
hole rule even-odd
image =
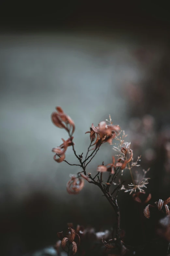
[[73, 255], [77, 252], [77, 247], [80, 244], [80, 237], [78, 234], [76, 234], [76, 231], [72, 228], [68, 228], [68, 231], [66, 233], [66, 236], [64, 237], [63, 232], [57, 233], [59, 239], [61, 240], [61, 247], [64, 250], [66, 245], [68, 247], [68, 253], [70, 250], [70, 245], [72, 245], [72, 252]]

